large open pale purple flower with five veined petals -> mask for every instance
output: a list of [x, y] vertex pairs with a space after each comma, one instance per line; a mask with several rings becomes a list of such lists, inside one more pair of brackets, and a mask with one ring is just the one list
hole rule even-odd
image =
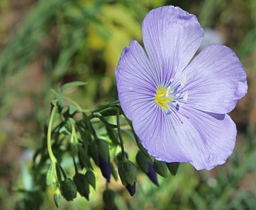
[[142, 37], [145, 50], [132, 41], [116, 69], [121, 107], [142, 145], [159, 161], [190, 162], [197, 170], [224, 164], [237, 135], [227, 113], [247, 92], [239, 59], [210, 45], [191, 61], [203, 29], [179, 7], [149, 12]]

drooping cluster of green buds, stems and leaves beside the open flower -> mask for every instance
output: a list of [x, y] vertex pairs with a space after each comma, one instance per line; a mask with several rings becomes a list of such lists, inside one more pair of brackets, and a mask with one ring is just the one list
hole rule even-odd
[[[104, 207], [108, 209], [114, 208], [115, 198], [114, 191], [108, 185], [111, 182], [111, 176], [115, 180], [120, 178], [122, 185], [133, 196], [136, 191], [137, 166], [156, 186], [159, 186], [158, 174], [163, 178], [167, 177], [168, 170], [173, 175], [176, 174], [179, 163], [166, 164], [166, 162], [153, 159], [139, 144], [136, 135], [138, 153], [136, 157], [128, 157], [121, 135], [119, 117], [122, 110], [119, 103], [99, 107], [87, 116], [87, 113], [77, 106], [71, 104], [65, 107], [61, 94], [53, 93], [56, 100], [52, 102], [53, 111], [47, 130], [47, 149], [51, 164], [46, 174], [46, 184], [53, 185], [55, 188], [54, 201], [57, 207], [60, 207], [63, 199], [73, 201], [74, 198], [77, 198], [77, 192], [89, 201], [90, 188], [96, 188], [94, 168], [99, 168], [106, 180], [102, 198]], [[56, 118], [54, 118], [54, 114], [57, 113], [57, 110], [59, 110], [61, 123], [53, 127], [53, 119]], [[81, 114], [82, 119], [76, 120], [76, 114]], [[116, 124], [111, 124], [109, 122], [111, 120], [108, 121], [113, 117], [116, 117]], [[97, 128], [92, 119], [96, 119]], [[128, 121], [128, 124], [131, 125], [131, 122]], [[98, 134], [98, 128], [101, 129], [100, 134]], [[105, 134], [102, 130], [105, 130]], [[132, 126], [131, 131], [134, 131]], [[69, 142], [63, 144], [66, 139], [69, 139]], [[65, 149], [60, 149], [60, 146]], [[73, 159], [75, 173], [72, 179], [60, 166], [63, 154], [66, 155], [65, 157], [70, 155]], [[137, 163], [132, 161], [134, 158]]]

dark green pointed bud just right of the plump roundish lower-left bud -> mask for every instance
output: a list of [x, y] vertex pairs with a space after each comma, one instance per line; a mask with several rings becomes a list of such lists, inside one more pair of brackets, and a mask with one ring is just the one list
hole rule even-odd
[[80, 195], [84, 196], [84, 198], [87, 198], [89, 201], [90, 188], [86, 176], [84, 174], [76, 173], [73, 176], [73, 182], [77, 185], [77, 191]]

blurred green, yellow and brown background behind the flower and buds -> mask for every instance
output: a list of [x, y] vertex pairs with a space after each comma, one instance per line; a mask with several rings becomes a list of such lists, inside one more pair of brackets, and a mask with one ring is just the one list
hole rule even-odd
[[[114, 69], [121, 51], [132, 39], [142, 42], [143, 18], [162, 5], [179, 5], [195, 14], [205, 29], [203, 46], [223, 43], [241, 59], [249, 90], [230, 113], [237, 124], [237, 144], [227, 164], [212, 171], [196, 171], [190, 164], [181, 164], [176, 177], [159, 177], [159, 187], [141, 173], [132, 198], [120, 182], [114, 183], [116, 208], [255, 208], [254, 0], [1, 0], [0, 209], [15, 209], [17, 202], [26, 199], [21, 189], [35, 188], [29, 167], [49, 117], [53, 99], [49, 90], [80, 80], [87, 86], [67, 94], [81, 107], [90, 110], [101, 102], [117, 100]], [[61, 209], [102, 209], [102, 190], [99, 184], [90, 202], [77, 198], [64, 202]], [[51, 189], [40, 209], [47, 208], [55, 208]]]

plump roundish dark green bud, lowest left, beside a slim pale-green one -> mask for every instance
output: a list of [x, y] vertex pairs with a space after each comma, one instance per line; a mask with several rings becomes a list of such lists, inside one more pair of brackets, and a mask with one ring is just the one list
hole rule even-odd
[[65, 178], [60, 182], [61, 194], [67, 201], [73, 201], [77, 197], [77, 186], [70, 178]]

